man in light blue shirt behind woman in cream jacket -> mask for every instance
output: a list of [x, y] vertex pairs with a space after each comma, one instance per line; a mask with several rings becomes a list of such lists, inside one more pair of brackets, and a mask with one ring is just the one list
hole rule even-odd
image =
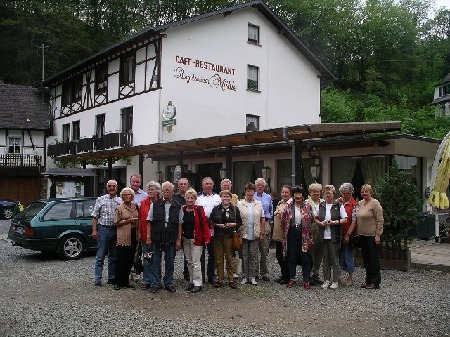
[[266, 185], [267, 183], [264, 178], [255, 180], [256, 193], [254, 198], [261, 202], [264, 210], [264, 217], [266, 218], [264, 240], [259, 241], [259, 252], [261, 254], [261, 259], [259, 260], [259, 274], [261, 274], [263, 281], [270, 281], [269, 271], [267, 269], [267, 255], [269, 254], [270, 220], [272, 219], [273, 205], [270, 194], [264, 192]]

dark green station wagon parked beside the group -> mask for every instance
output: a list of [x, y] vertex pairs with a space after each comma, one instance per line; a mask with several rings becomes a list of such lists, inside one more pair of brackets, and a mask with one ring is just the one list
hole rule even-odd
[[41, 252], [57, 252], [63, 259], [78, 259], [95, 250], [91, 212], [96, 198], [38, 200], [11, 221], [8, 238], [13, 245]]

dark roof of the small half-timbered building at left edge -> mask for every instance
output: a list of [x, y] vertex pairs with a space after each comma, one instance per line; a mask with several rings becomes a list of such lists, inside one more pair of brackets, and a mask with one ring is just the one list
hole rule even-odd
[[12, 84], [0, 84], [0, 129], [49, 129], [48, 101], [42, 90]]

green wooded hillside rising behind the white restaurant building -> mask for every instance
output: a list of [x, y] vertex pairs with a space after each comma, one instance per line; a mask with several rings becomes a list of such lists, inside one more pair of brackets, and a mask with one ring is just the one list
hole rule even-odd
[[[22, 0], [0, 4], [0, 79], [38, 86], [147, 26], [245, 1]], [[442, 138], [434, 86], [450, 72], [450, 10], [434, 0], [273, 0], [267, 5], [329, 67], [323, 122], [401, 120], [403, 132]]]

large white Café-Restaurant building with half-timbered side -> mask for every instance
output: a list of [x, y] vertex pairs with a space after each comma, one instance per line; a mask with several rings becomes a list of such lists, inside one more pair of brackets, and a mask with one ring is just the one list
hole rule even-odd
[[[92, 159], [107, 160], [97, 168], [97, 194], [107, 177], [124, 186], [134, 172], [144, 183], [176, 180], [176, 165], [196, 188], [205, 176], [217, 182], [225, 174], [239, 192], [263, 167], [271, 168], [276, 189], [292, 180], [308, 184], [318, 171], [316, 179], [340, 184], [337, 165], [356, 160], [345, 178], [360, 182], [357, 174], [382, 175], [394, 155], [412, 155], [402, 162], [427, 186], [438, 142], [367, 141], [371, 131], [398, 130], [399, 123], [320, 124], [320, 86], [331, 79], [261, 1], [150, 27], [45, 81], [54, 126], [48, 154], [88, 168]], [[359, 134], [365, 138], [324, 141]], [[116, 161], [123, 156], [128, 163]], [[378, 163], [375, 173], [368, 158], [370, 167]]]

